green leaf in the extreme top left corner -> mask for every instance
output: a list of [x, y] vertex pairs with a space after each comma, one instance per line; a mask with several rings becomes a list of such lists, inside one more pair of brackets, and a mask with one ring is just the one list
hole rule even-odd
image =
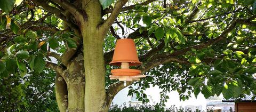
[[14, 0], [1, 0], [0, 9], [2, 9], [5, 13], [9, 14], [9, 12], [13, 9], [14, 3]]

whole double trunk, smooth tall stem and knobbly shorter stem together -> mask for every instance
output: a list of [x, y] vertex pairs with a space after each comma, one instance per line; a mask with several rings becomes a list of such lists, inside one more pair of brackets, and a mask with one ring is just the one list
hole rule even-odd
[[108, 111], [111, 102], [106, 97], [103, 58], [107, 31], [99, 30], [102, 8], [99, 1], [84, 0], [82, 3], [86, 17], [75, 18], [83, 37], [83, 50], [77, 51], [62, 74], [68, 91], [66, 111]]

